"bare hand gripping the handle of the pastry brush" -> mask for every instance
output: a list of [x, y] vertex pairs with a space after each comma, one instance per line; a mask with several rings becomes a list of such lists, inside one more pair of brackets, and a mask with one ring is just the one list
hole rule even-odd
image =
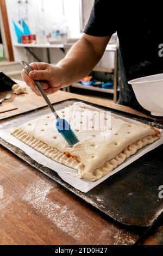
[[22, 77], [36, 95], [40, 96], [41, 94], [35, 87], [34, 80], [42, 81], [42, 88], [47, 95], [56, 93], [58, 90], [61, 89], [61, 78], [63, 77], [63, 75], [60, 68], [43, 62], [32, 63], [30, 64], [30, 66], [33, 71], [31, 71], [28, 76], [23, 70]]

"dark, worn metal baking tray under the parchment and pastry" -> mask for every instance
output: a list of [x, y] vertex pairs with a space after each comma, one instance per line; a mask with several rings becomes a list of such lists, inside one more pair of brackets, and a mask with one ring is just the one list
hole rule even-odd
[[[61, 101], [55, 104], [55, 108], [59, 110], [78, 101], [76, 99]], [[154, 121], [152, 118], [141, 118], [123, 111], [115, 111], [114, 109], [101, 107], [86, 101], [82, 102], [124, 117], [143, 121], [145, 124], [163, 128], [161, 122]], [[39, 110], [36, 109], [26, 115], [43, 114], [46, 109], [46, 107]], [[13, 120], [15, 121], [16, 117], [14, 119], [6, 119], [5, 125]], [[3, 125], [1, 124], [1, 127]], [[35, 162], [24, 151], [5, 142], [3, 139], [0, 139], [0, 144], [29, 163], [30, 166], [120, 223], [148, 227], [163, 211], [163, 199], [159, 198], [159, 186], [163, 185], [163, 145], [142, 156], [120, 172], [110, 176], [91, 191], [83, 193], [68, 185], [53, 170]]]

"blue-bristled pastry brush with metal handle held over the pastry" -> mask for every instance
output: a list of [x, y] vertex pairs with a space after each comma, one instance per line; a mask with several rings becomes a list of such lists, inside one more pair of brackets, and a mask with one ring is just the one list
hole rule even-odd
[[[32, 68], [29, 66], [27, 62], [23, 62], [20, 60], [21, 65], [23, 66], [24, 71], [26, 71], [27, 75], [32, 70]], [[61, 134], [61, 136], [65, 139], [65, 141], [70, 145], [73, 146], [74, 144], [78, 143], [79, 140], [75, 133], [73, 132], [70, 124], [65, 119], [61, 119], [57, 112], [55, 111], [54, 107], [52, 106], [52, 103], [49, 101], [47, 95], [45, 94], [44, 90], [42, 89], [41, 83], [38, 81], [35, 81], [35, 86], [41, 93], [43, 99], [45, 99], [47, 105], [51, 109], [52, 113], [54, 114], [55, 118], [57, 119], [57, 122], [55, 126], [57, 127], [58, 132]]]

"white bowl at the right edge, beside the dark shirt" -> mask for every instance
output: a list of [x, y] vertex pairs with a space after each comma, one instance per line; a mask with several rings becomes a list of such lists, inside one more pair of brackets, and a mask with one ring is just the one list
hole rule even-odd
[[137, 101], [157, 117], [163, 116], [163, 74], [131, 80]]

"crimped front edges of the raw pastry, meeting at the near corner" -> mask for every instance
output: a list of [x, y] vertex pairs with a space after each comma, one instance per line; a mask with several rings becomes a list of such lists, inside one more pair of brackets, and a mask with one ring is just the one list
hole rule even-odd
[[93, 172], [84, 172], [84, 165], [79, 163], [73, 157], [66, 156], [65, 153], [62, 153], [58, 149], [49, 147], [47, 144], [35, 139], [32, 136], [27, 135], [20, 128], [15, 128], [11, 134], [16, 138], [20, 139], [20, 141], [26, 143], [30, 147], [39, 151], [43, 155], [51, 158], [53, 161], [56, 161], [61, 164], [65, 164], [65, 166], [71, 167], [78, 171], [78, 177], [80, 179], [87, 179], [91, 181], [96, 181], [101, 179], [106, 174], [109, 174], [114, 170], [117, 166], [122, 164], [128, 157], [134, 155], [137, 150], [145, 147], [147, 144], [152, 144], [155, 142], [159, 136], [150, 135], [145, 138], [140, 139], [139, 141], [129, 145], [126, 149], [124, 149], [120, 154], [118, 154], [114, 159], [107, 161], [103, 167], [94, 170]]

